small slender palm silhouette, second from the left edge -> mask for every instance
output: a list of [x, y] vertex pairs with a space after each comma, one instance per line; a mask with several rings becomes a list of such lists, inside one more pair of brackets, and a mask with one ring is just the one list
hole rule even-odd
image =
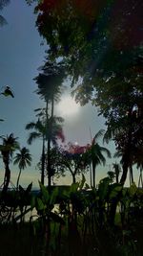
[[31, 166], [31, 153], [29, 149], [27, 149], [26, 147], [19, 149], [19, 152], [17, 152], [16, 156], [14, 157], [13, 164], [14, 165], [18, 164], [18, 167], [19, 167], [19, 175], [18, 175], [17, 184], [16, 184], [16, 187], [18, 189], [19, 179], [20, 179], [22, 170], [24, 170], [27, 167], [27, 165]]

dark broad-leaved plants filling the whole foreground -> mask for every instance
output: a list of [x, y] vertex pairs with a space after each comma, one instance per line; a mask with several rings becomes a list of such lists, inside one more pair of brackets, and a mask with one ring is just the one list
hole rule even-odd
[[[12, 209], [8, 215], [1, 208], [0, 255], [143, 255], [142, 189], [134, 184], [123, 188], [109, 177], [97, 190], [83, 189], [84, 185], [83, 176], [61, 191], [48, 192], [40, 183], [37, 195], [31, 194], [31, 186], [25, 199], [19, 194], [15, 201], [10, 194], [15, 205], [5, 205], [5, 211]], [[28, 212], [31, 217], [25, 221]]]

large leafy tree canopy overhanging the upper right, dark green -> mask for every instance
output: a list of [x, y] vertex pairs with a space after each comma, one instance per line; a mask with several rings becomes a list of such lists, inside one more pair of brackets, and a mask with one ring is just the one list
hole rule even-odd
[[106, 139], [123, 152], [126, 171], [127, 152], [143, 142], [142, 11], [140, 0], [44, 0], [35, 7], [48, 58], [64, 63], [75, 100], [91, 101], [106, 118]]

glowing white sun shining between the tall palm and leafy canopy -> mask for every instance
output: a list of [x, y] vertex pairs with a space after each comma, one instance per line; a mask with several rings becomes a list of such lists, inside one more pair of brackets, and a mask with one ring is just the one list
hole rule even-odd
[[57, 109], [63, 116], [69, 116], [77, 114], [79, 111], [79, 105], [75, 103], [75, 101], [67, 96], [62, 99], [62, 101], [57, 105]]

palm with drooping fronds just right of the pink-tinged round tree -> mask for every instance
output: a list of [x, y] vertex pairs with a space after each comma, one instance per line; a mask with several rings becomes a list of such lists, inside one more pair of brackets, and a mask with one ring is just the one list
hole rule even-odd
[[104, 130], [100, 129], [95, 136], [92, 139], [92, 145], [87, 151], [89, 161], [92, 163], [92, 187], [95, 188], [95, 170], [97, 165], [103, 164], [105, 165], [106, 163], [106, 158], [103, 153], [106, 153], [108, 157], [111, 158], [111, 152], [104, 148], [101, 147], [96, 141], [99, 137], [103, 135]]

